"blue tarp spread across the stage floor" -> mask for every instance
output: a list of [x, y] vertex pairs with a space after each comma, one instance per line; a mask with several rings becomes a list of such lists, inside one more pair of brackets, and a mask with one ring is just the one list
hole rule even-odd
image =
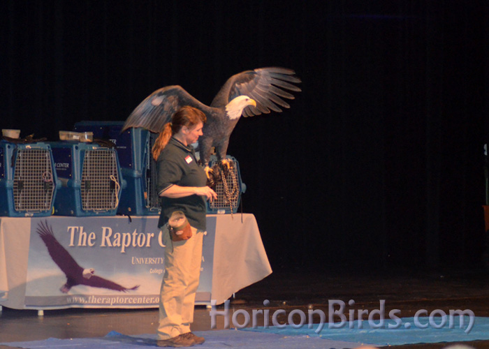
[[[432, 319], [402, 318], [402, 324], [397, 329], [388, 328], [388, 325], [396, 325], [393, 320], [386, 320], [384, 328], [374, 328], [379, 320], [370, 324], [363, 321], [363, 328], [358, 328], [358, 321], [353, 322], [353, 328], [349, 328], [346, 322], [342, 328], [330, 328], [324, 324], [321, 332], [316, 331], [319, 325], [309, 329], [307, 325], [302, 328], [293, 328], [290, 325], [284, 328], [257, 327], [240, 330], [223, 329], [206, 332], [196, 332], [198, 336], [205, 337], [205, 343], [198, 346], [207, 348], [258, 348], [258, 349], [293, 349], [293, 348], [357, 348], [361, 345], [373, 346], [397, 346], [414, 343], [440, 343], [489, 340], [489, 318], [474, 318], [474, 326], [470, 331], [469, 318], [460, 328], [459, 318], [455, 317], [453, 326], [449, 326], [449, 320], [441, 328], [441, 318]], [[409, 323], [409, 325], [407, 325]], [[372, 326], [371, 326], [372, 325]], [[337, 326], [337, 324], [335, 325]], [[425, 328], [419, 328], [425, 326]], [[467, 333], [468, 332], [468, 333]], [[137, 348], [142, 346], [156, 346], [156, 335], [144, 334], [141, 336], [125, 336], [117, 332], [110, 332], [103, 338], [94, 339], [46, 339], [44, 341], [0, 343], [5, 346], [17, 348]]]

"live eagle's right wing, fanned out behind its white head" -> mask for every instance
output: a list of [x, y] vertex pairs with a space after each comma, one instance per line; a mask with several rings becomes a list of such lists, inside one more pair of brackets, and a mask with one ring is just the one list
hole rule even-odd
[[295, 76], [295, 72], [287, 68], [270, 67], [246, 70], [230, 77], [210, 106], [224, 107], [233, 98], [249, 96], [256, 101], [256, 107], [253, 105], [245, 107], [242, 112], [245, 117], [261, 113], [268, 114], [270, 110], [282, 112], [280, 107], [290, 107], [282, 98], [294, 99], [293, 94], [285, 90], [300, 92], [300, 88], [294, 85], [299, 83], [300, 79]]

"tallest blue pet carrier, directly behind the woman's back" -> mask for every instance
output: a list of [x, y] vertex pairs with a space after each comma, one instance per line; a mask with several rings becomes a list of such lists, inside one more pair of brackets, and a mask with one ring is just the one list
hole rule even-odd
[[126, 188], [119, 202], [119, 214], [159, 215], [161, 206], [156, 192], [156, 162], [151, 149], [157, 134], [143, 128], [121, 133], [123, 121], [81, 121], [74, 131], [93, 132], [94, 140], [110, 140], [117, 148]]

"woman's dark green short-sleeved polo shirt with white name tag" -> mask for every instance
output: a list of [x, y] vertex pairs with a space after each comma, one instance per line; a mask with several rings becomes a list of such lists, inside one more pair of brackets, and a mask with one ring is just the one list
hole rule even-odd
[[[161, 151], [157, 161], [157, 190], [161, 194], [170, 186], [205, 186], [207, 177], [195, 157], [194, 147], [186, 147], [182, 142], [170, 138]], [[200, 195], [189, 195], [183, 198], [160, 197], [161, 214], [158, 226], [163, 227], [173, 211], [183, 211], [192, 227], [205, 230], [205, 199]]]

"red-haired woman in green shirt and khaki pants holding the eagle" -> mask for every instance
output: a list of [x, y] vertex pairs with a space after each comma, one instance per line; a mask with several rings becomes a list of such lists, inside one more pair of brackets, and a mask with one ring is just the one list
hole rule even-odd
[[157, 330], [157, 344], [163, 347], [194, 346], [205, 341], [190, 332], [202, 260], [205, 200], [217, 198], [205, 185], [205, 171], [191, 146], [202, 135], [205, 121], [200, 110], [182, 107], [163, 127], [153, 147], [161, 197], [158, 226], [166, 246]]

